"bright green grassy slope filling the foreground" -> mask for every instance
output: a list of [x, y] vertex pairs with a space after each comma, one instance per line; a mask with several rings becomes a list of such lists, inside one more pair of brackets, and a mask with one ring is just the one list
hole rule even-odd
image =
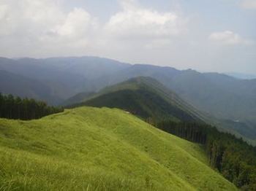
[[236, 190], [198, 144], [119, 109], [0, 119], [0, 190]]

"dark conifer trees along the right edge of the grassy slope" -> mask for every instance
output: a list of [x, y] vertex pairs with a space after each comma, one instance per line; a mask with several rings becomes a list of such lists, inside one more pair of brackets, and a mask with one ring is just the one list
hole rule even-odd
[[256, 147], [203, 123], [166, 120], [157, 128], [203, 144], [211, 167], [241, 190], [256, 190]]

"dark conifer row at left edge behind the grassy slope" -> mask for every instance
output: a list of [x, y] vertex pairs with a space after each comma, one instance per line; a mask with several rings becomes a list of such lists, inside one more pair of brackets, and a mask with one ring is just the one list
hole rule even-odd
[[62, 107], [48, 106], [44, 101], [20, 98], [0, 93], [0, 117], [15, 120], [39, 119], [49, 114], [63, 112]]

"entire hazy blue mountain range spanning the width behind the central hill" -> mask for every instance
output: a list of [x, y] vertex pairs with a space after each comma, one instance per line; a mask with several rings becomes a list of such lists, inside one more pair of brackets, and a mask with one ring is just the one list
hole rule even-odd
[[151, 77], [192, 108], [210, 116], [214, 124], [256, 139], [256, 79], [131, 65], [95, 57], [0, 58], [0, 70], [2, 93], [37, 98], [50, 104], [67, 104], [74, 95], [83, 97], [134, 77]]

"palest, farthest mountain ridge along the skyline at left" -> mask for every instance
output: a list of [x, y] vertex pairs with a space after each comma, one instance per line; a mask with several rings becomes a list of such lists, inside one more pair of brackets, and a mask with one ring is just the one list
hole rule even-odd
[[[129, 66], [127, 63], [97, 57], [20, 58], [17, 60], [0, 58], [0, 69], [37, 79], [60, 80], [60, 77], [66, 77], [66, 75], [97, 79]], [[68, 81], [67, 77], [63, 79]]]

